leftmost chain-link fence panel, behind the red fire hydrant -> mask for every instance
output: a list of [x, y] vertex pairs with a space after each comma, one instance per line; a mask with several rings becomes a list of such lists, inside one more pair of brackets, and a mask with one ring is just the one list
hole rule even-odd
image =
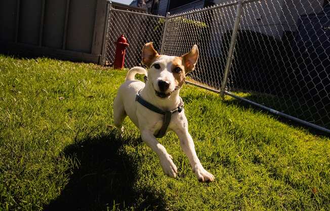
[[116, 41], [121, 34], [128, 40], [125, 66], [141, 65], [141, 52], [144, 44], [153, 42], [155, 50], [160, 51], [165, 17], [132, 11], [109, 9], [105, 34], [105, 50], [102, 63], [111, 66], [114, 61]]

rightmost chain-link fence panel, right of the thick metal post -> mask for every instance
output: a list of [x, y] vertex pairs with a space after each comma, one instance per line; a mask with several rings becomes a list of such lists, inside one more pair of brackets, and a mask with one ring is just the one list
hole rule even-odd
[[329, 26], [324, 1], [244, 4], [228, 90], [330, 128]]

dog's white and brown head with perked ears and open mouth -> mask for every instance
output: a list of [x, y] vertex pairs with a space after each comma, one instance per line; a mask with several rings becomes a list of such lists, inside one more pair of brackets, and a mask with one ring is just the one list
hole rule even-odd
[[149, 68], [148, 80], [152, 83], [155, 94], [161, 98], [170, 95], [182, 87], [186, 74], [194, 70], [198, 59], [198, 48], [192, 47], [189, 53], [177, 56], [159, 55], [152, 42], [142, 49], [142, 62]]

